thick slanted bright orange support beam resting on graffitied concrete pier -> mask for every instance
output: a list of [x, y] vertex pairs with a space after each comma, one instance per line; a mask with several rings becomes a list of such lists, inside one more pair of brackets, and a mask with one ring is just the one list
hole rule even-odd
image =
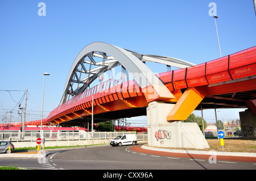
[[168, 114], [167, 121], [186, 120], [204, 99], [205, 95], [206, 91], [203, 87], [192, 87], [185, 90], [174, 108]]

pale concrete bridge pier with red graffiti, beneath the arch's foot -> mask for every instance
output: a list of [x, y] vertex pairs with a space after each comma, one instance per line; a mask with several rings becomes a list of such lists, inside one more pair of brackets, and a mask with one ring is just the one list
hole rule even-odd
[[175, 104], [152, 102], [147, 107], [148, 145], [163, 148], [209, 148], [196, 123], [167, 121]]

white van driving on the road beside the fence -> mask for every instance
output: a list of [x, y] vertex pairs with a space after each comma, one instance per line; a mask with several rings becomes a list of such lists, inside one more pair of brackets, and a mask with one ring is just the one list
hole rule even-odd
[[110, 145], [112, 146], [135, 145], [135, 144], [137, 144], [136, 134], [119, 135], [110, 142]]

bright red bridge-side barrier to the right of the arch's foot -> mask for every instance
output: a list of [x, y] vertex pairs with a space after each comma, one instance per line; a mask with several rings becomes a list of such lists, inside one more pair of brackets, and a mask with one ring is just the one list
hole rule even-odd
[[256, 47], [204, 64], [157, 74], [170, 91], [256, 75]]

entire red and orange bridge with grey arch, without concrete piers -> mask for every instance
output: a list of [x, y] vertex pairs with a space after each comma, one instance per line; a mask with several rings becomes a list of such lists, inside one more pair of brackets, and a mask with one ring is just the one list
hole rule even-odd
[[[146, 61], [179, 69], [154, 74]], [[102, 79], [106, 71], [119, 65], [134, 79], [109, 79], [90, 88], [95, 79]], [[169, 123], [185, 120], [201, 108], [249, 108], [256, 115], [256, 47], [195, 65], [102, 42], [89, 44], [73, 62], [60, 105], [43, 119], [43, 125], [82, 126], [91, 120], [92, 106], [94, 123], [147, 115], [153, 102], [172, 105], [164, 120]], [[20, 127], [20, 123], [12, 126]]]

